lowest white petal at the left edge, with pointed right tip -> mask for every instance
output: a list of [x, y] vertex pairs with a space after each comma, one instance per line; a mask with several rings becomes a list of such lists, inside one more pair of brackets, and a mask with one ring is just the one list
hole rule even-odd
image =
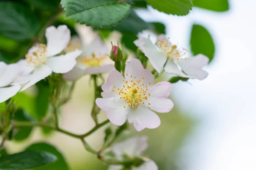
[[20, 91], [20, 85], [0, 88], [0, 103], [5, 102]]

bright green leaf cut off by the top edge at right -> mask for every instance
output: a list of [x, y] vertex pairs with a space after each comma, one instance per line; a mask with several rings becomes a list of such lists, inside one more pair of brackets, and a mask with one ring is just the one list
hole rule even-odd
[[194, 6], [212, 11], [223, 12], [229, 10], [228, 0], [193, 0]]

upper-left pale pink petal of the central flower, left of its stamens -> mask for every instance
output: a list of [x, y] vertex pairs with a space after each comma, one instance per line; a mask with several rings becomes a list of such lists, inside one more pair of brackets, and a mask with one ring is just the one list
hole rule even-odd
[[[122, 88], [124, 82], [124, 77], [119, 71], [112, 71], [108, 75], [108, 79], [104, 85], [102, 85], [102, 97], [103, 98], [111, 98], [111, 97], [118, 97], [119, 95], [115, 93], [117, 92], [118, 88]], [[115, 88], [114, 88], [115, 87]], [[114, 92], [113, 92], [114, 90]]]

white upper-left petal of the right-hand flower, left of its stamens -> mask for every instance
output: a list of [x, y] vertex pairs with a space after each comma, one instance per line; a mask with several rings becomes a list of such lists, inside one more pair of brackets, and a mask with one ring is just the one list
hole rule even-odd
[[160, 73], [167, 59], [163, 51], [160, 51], [156, 45], [145, 37], [135, 40], [134, 44], [148, 57], [152, 66]]

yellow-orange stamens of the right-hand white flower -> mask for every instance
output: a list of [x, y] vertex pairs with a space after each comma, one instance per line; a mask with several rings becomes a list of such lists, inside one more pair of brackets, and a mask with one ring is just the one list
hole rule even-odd
[[157, 47], [163, 51], [167, 57], [171, 59], [187, 59], [187, 58], [181, 58], [183, 55], [186, 54], [186, 49], [183, 48], [182, 50], [177, 48], [177, 45], [172, 45], [171, 42], [168, 40], [157, 40]]

